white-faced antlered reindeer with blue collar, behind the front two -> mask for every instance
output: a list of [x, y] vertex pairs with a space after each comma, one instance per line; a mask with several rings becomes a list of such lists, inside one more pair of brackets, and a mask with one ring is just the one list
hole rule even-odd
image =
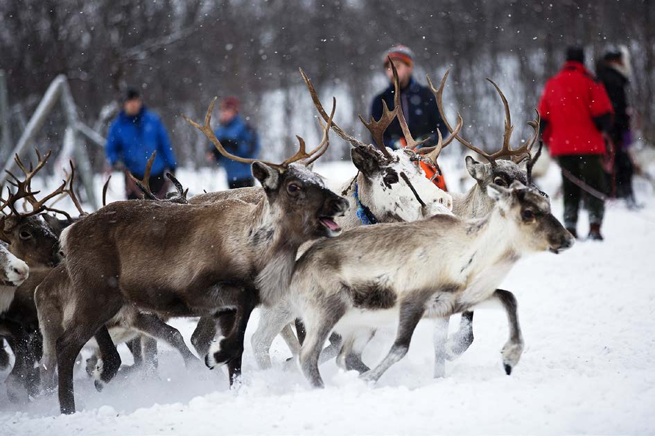
[[[300, 73], [318, 113], [327, 122], [329, 116], [324, 111], [313, 84], [302, 69], [300, 69]], [[397, 79], [394, 83], [396, 89], [399, 89]], [[396, 96], [399, 96], [397, 91]], [[396, 151], [388, 150], [381, 142], [381, 138], [387, 126], [396, 118], [396, 113], [399, 110], [401, 111], [401, 106], [398, 103], [396, 103], [396, 108], [398, 109], [389, 111], [385, 107], [383, 116], [377, 121], [365, 122], [363, 118], [360, 118], [376, 138], [376, 145], [362, 143], [353, 136], [346, 134], [335, 122], [331, 123], [335, 133], [352, 145], [351, 158], [358, 169], [358, 174], [351, 181], [335, 189], [336, 192], [341, 192], [344, 197], [347, 197], [350, 203], [348, 212], [344, 217], [337, 220], [338, 224], [344, 229], [360, 226], [363, 222], [413, 221], [435, 215], [435, 213], [450, 213], [451, 196], [430, 183], [417, 162], [421, 160], [436, 161], [442, 147], [446, 147], [452, 139], [433, 147], [424, 147], [418, 152], [414, 152], [413, 147]], [[408, 143], [414, 146], [419, 145], [410, 135], [402, 113], [401, 120]], [[461, 127], [462, 125], [458, 124], [457, 131]], [[232, 198], [256, 203], [261, 200], [262, 196], [263, 190], [261, 188], [241, 188], [200, 194], [193, 197], [190, 202], [200, 204], [207, 201]], [[306, 250], [308, 244], [310, 243], [306, 243], [300, 248], [300, 253]], [[259, 327], [252, 336], [252, 346], [260, 367], [270, 367], [268, 350], [278, 331], [272, 331], [268, 328], [270, 323], [268, 318], [276, 318], [277, 309], [278, 307], [272, 309], [261, 308]], [[231, 325], [229, 317], [221, 318], [221, 320], [220, 330], [229, 331]], [[299, 352], [299, 343], [290, 327], [284, 327], [280, 333], [292, 353], [297, 354]], [[209, 351], [210, 341], [215, 335], [216, 323], [213, 322], [211, 317], [201, 318], [198, 327], [193, 332], [191, 343], [193, 343], [199, 354], [204, 355]], [[339, 343], [335, 340], [333, 345], [338, 347]]]

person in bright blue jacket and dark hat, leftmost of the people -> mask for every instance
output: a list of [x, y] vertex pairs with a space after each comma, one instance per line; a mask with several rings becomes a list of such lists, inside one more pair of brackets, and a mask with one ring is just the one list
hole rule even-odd
[[[167, 183], [165, 170], [173, 173], [177, 162], [166, 127], [157, 113], [143, 105], [141, 94], [136, 89], [128, 89], [123, 101], [123, 111], [119, 113], [107, 135], [105, 153], [114, 170], [132, 173], [143, 179], [146, 163], [152, 153], [157, 152], [150, 171], [150, 190], [159, 198], [166, 196]], [[128, 200], [141, 199], [143, 194], [125, 172], [125, 194]]]

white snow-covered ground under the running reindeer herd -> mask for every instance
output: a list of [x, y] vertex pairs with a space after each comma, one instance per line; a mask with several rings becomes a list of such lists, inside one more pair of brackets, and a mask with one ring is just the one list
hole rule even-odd
[[[455, 174], [446, 165], [446, 174]], [[350, 166], [318, 166], [345, 179]], [[222, 174], [180, 172], [192, 191], [221, 188]], [[190, 183], [193, 181], [194, 183]], [[217, 182], [218, 181], [218, 182]], [[457, 189], [455, 177], [448, 180]], [[98, 181], [100, 183], [100, 181]], [[113, 183], [113, 181], [112, 181]], [[543, 181], [548, 192], [557, 174]], [[202, 187], [202, 188], [200, 188]], [[643, 187], [644, 188], [644, 187]], [[246, 335], [243, 385], [229, 390], [221, 370], [185, 370], [182, 358], [159, 345], [159, 376], [133, 375], [96, 392], [76, 376], [80, 412], [60, 416], [56, 397], [10, 403], [0, 385], [3, 435], [220, 435], [220, 434], [645, 434], [655, 432], [655, 197], [645, 208], [609, 204], [606, 242], [579, 242], [561, 255], [521, 260], [503, 283], [519, 302], [525, 338], [521, 363], [505, 375], [500, 348], [507, 321], [500, 310], [475, 313], [475, 342], [433, 379], [431, 324], [419, 324], [408, 356], [376, 386], [326, 363], [326, 389], [309, 388], [298, 371], [282, 370], [290, 355], [279, 339], [274, 368], [256, 368]], [[120, 181], [112, 193], [121, 192]], [[561, 199], [553, 200], [561, 216]], [[586, 234], [586, 216], [579, 233]], [[451, 330], [458, 320], [453, 318]], [[193, 320], [174, 320], [189, 340]], [[376, 336], [364, 360], [374, 364], [393, 340]], [[120, 347], [125, 363], [130, 356]], [[0, 374], [0, 379], [6, 374]]]

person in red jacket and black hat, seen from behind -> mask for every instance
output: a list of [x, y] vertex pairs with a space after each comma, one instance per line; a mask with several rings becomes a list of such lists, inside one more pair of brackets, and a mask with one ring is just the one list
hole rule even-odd
[[577, 237], [584, 193], [589, 239], [602, 240], [604, 201], [598, 193], [605, 188], [603, 132], [611, 126], [613, 109], [602, 83], [584, 67], [582, 48], [567, 49], [564, 67], [545, 84], [539, 113], [543, 140], [562, 169], [564, 225]]

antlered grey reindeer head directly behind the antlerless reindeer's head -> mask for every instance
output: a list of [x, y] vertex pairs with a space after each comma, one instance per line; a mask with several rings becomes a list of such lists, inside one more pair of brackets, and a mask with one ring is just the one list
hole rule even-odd
[[[466, 157], [466, 170], [468, 170], [473, 179], [478, 182], [478, 185], [482, 191], [484, 192], [490, 183], [495, 183], [496, 185], [507, 188], [514, 181], [519, 181], [523, 183], [523, 185], [530, 186], [530, 188], [535, 190], [539, 190], [539, 188], [537, 188], [536, 185], [532, 183], [532, 166], [541, 154], [540, 143], [539, 150], [536, 152], [534, 157], [532, 156], [532, 147], [534, 146], [536, 139], [539, 137], [539, 121], [541, 119], [539, 116], [539, 111], [536, 111], [535, 109], [536, 119], [527, 122], [527, 125], [532, 127], [534, 131], [532, 137], [523, 145], [521, 145], [521, 147], [512, 149], [512, 147], [509, 145], [509, 140], [512, 136], [514, 126], [512, 125], [512, 118], [509, 114], [509, 104], [507, 103], [507, 98], [505, 98], [505, 95], [502, 91], [500, 91], [500, 88], [493, 80], [487, 79], [492, 85], [494, 85], [496, 91], [498, 91], [500, 100], [503, 101], [503, 107], [505, 107], [505, 134], [503, 135], [503, 145], [500, 147], [500, 150], [493, 154], [486, 153], [482, 151], [482, 149], [475, 147], [475, 145], [471, 144], [469, 141], [464, 140], [459, 135], [459, 131], [457, 129], [453, 130], [450, 123], [448, 123], [448, 120], [446, 119], [442, 97], [449, 73], [450, 70], [448, 69], [446, 74], [444, 74], [444, 78], [442, 79], [438, 90], [433, 86], [430, 77], [426, 76], [428, 79], [428, 85], [430, 86], [430, 90], [435, 95], [437, 100], [437, 107], [439, 108], [439, 113], [442, 116], [442, 120], [444, 120], [448, 130], [451, 131], [452, 136], [457, 138], [457, 140], [459, 140], [462, 145], [473, 150], [473, 152], [480, 154], [489, 162], [480, 163], [475, 161], [475, 159], [470, 156]], [[459, 113], [457, 114], [457, 117], [461, 120]], [[548, 195], [541, 190], [539, 190], [539, 193], [543, 197], [548, 198]]]

